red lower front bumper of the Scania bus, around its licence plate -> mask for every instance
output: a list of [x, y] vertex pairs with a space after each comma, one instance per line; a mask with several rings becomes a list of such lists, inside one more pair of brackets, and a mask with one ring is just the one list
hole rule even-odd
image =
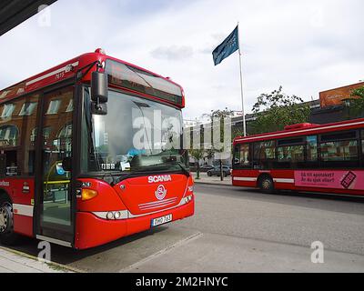
[[173, 216], [173, 221], [193, 216], [195, 200], [187, 205], [161, 211], [153, 215], [139, 216], [123, 220], [106, 220], [92, 213], [76, 213], [75, 248], [86, 249], [101, 246], [124, 236], [146, 231], [151, 228], [151, 221], [157, 217]]

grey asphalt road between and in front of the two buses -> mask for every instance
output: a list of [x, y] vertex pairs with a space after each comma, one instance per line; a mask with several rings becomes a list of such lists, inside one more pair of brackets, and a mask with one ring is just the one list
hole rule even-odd
[[[324, 246], [324, 264], [310, 248]], [[37, 254], [25, 239], [17, 250]], [[196, 186], [196, 215], [106, 246], [52, 246], [86, 272], [364, 272], [364, 199]]]

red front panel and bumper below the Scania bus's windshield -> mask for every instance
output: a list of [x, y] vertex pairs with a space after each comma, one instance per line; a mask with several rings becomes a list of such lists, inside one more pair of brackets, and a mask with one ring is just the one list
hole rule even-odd
[[[194, 215], [191, 176], [171, 175], [171, 181], [163, 183], [149, 183], [148, 177], [142, 176], [127, 179], [114, 187], [96, 179], [79, 180], [88, 185], [87, 189], [96, 190], [98, 195], [89, 201], [77, 198], [75, 247], [78, 249], [100, 246], [146, 231], [151, 228], [151, 220], [157, 217], [172, 215], [175, 221]], [[162, 200], [157, 199], [158, 186], [167, 190]], [[192, 200], [178, 206], [187, 196], [192, 196]], [[140, 209], [144, 205], [147, 209]], [[97, 213], [110, 211], [127, 212], [128, 218], [107, 220], [97, 216]]]

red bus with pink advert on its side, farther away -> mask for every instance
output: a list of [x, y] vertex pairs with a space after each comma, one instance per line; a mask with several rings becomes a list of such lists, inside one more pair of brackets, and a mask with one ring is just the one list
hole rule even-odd
[[234, 140], [233, 185], [362, 196], [364, 119]]

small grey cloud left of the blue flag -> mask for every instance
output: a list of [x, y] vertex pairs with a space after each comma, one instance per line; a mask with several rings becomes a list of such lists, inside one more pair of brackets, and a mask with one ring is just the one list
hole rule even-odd
[[157, 59], [180, 61], [194, 55], [194, 49], [191, 46], [159, 46], [151, 51], [150, 55]]

